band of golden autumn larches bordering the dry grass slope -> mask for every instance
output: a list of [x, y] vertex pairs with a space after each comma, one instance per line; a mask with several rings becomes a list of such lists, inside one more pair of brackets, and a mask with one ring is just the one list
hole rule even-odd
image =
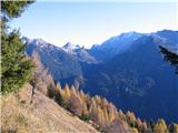
[[76, 89], [75, 85], [65, 85], [62, 89], [60, 82], [53, 81], [39, 60], [37, 53], [33, 53], [32, 62], [36, 64], [33, 71], [34, 88], [51, 98], [59, 105], [70, 111], [73, 115], [106, 133], [177, 133], [178, 125], [167, 124], [162, 119], [158, 121], [144, 121], [137, 117], [132, 112], [122, 112], [111, 102], [99, 95], [90, 96], [82, 90]]

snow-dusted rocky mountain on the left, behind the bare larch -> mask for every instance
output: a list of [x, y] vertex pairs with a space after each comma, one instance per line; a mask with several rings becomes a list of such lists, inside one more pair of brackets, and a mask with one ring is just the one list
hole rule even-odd
[[60, 81], [62, 85], [66, 82], [71, 84], [73, 81], [76, 84], [81, 84], [83, 82], [81, 64], [97, 63], [97, 60], [79, 45], [67, 43], [58, 48], [41, 39], [23, 38], [23, 40], [28, 43], [26, 52], [29, 55], [33, 52], [38, 53], [42, 64], [49, 68], [53, 79]]

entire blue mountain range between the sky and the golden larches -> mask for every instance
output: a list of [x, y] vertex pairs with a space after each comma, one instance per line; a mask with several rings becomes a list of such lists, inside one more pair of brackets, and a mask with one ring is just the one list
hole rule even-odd
[[26, 52], [37, 52], [55, 81], [100, 94], [119, 109], [147, 120], [178, 122], [178, 75], [159, 47], [178, 54], [178, 31], [128, 32], [85, 49], [68, 42], [62, 48], [30, 40]]

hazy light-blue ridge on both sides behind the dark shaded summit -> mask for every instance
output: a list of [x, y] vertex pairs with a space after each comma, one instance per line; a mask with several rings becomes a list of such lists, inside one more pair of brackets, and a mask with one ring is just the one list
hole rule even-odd
[[117, 54], [127, 52], [134, 48], [134, 42], [141, 37], [156, 37], [161, 40], [167, 48], [177, 51], [178, 47], [178, 32], [171, 30], [162, 30], [152, 33], [139, 33], [139, 32], [126, 32], [119, 35], [112, 37], [99, 45], [93, 45], [89, 53], [97, 58], [98, 60], [109, 60]]

